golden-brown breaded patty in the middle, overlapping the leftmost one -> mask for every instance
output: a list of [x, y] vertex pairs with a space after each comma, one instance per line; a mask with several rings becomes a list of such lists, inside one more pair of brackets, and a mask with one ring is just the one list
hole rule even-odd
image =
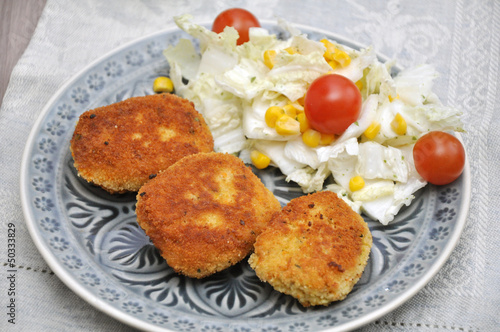
[[224, 153], [184, 157], [137, 195], [139, 225], [178, 273], [203, 278], [245, 258], [281, 210], [250, 168]]

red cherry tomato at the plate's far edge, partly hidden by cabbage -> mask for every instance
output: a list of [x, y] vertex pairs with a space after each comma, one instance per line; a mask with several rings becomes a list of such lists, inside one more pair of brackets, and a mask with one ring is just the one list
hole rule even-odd
[[238, 31], [240, 38], [236, 44], [246, 43], [248, 38], [248, 29], [260, 27], [260, 23], [252, 13], [242, 8], [231, 8], [220, 13], [212, 25], [212, 31], [221, 33], [226, 26], [230, 26]]

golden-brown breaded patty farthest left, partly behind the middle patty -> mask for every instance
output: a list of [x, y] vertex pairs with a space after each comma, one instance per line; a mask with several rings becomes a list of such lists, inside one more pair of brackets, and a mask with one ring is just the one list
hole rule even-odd
[[111, 193], [138, 191], [184, 156], [213, 151], [193, 103], [172, 94], [133, 97], [83, 113], [71, 139], [75, 168]]

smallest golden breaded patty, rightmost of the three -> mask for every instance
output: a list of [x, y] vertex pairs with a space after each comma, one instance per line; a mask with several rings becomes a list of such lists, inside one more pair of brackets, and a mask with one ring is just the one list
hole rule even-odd
[[257, 237], [250, 266], [257, 276], [304, 306], [344, 299], [366, 266], [372, 236], [337, 194], [292, 199]]

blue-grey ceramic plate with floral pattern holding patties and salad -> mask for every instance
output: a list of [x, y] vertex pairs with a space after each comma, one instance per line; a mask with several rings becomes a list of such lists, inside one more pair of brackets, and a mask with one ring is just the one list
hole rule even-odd
[[[271, 23], [265, 27], [275, 33]], [[299, 27], [312, 39], [324, 31]], [[177, 275], [135, 219], [134, 195], [111, 196], [75, 173], [69, 141], [85, 110], [152, 94], [168, 73], [162, 50], [189, 38], [171, 29], [95, 61], [50, 100], [28, 139], [21, 197], [26, 223], [58, 277], [97, 309], [133, 327], [164, 331], [336, 331], [360, 327], [411, 298], [444, 264], [464, 227], [470, 170], [427, 186], [389, 226], [367, 220], [373, 250], [352, 293], [328, 307], [304, 308], [258, 280], [246, 261], [203, 280]], [[259, 177], [284, 205], [301, 194], [279, 171]]]

